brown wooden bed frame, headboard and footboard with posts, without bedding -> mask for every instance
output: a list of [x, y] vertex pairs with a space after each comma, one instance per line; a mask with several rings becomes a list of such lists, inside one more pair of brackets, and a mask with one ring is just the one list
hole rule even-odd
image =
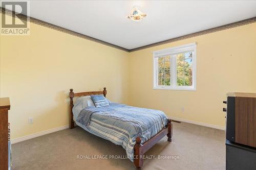
[[[72, 109], [74, 107], [73, 105], [73, 98], [75, 96], [81, 97], [86, 95], [93, 95], [93, 94], [103, 94], [106, 96], [106, 88], [103, 88], [103, 91], [88, 91], [88, 92], [79, 92], [74, 93], [73, 89], [70, 89], [69, 97], [70, 97], [70, 110], [69, 110], [69, 116], [70, 116], [70, 129], [74, 128], [74, 120], [73, 120], [73, 112]], [[134, 145], [134, 164], [136, 166], [136, 169], [141, 169], [143, 165], [143, 155], [146, 151], [151, 149], [160, 139], [162, 139], [165, 135], [167, 135], [168, 139], [167, 141], [172, 141], [173, 136], [173, 124], [172, 120], [168, 119], [167, 125], [158, 132], [155, 136], [153, 136], [151, 139], [147, 140], [143, 144], [141, 144], [141, 138], [136, 138], [136, 144]]]

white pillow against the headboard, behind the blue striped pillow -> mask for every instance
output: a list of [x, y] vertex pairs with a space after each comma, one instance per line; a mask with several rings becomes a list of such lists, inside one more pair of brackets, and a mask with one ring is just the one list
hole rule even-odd
[[76, 120], [80, 111], [88, 106], [95, 106], [90, 95], [82, 96], [82, 97], [78, 98], [75, 101], [75, 105], [72, 109], [73, 115], [74, 115], [73, 119]]

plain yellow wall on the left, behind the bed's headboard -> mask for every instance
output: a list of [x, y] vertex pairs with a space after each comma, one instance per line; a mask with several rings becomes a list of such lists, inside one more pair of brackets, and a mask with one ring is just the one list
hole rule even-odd
[[128, 102], [127, 52], [33, 23], [30, 30], [0, 36], [0, 93], [10, 97], [12, 139], [68, 125], [70, 88], [106, 87], [110, 100]]

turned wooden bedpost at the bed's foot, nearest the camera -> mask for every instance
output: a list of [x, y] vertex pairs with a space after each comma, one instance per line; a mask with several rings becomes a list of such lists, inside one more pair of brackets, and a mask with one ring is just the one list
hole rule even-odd
[[136, 144], [134, 145], [134, 164], [136, 166], [136, 170], [140, 170], [143, 165], [143, 150], [141, 144], [141, 138], [136, 138]]

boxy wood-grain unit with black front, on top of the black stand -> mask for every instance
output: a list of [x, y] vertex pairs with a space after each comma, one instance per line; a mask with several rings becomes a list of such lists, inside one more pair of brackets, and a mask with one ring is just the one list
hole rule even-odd
[[256, 93], [228, 93], [226, 103], [226, 139], [256, 148]]

